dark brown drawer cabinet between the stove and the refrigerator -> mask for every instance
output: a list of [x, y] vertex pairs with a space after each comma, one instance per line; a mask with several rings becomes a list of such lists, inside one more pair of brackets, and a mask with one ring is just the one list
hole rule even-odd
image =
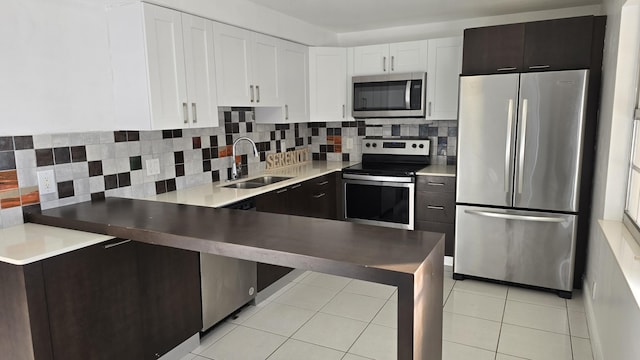
[[446, 256], [453, 256], [455, 247], [455, 191], [453, 176], [418, 176], [415, 229], [444, 233]]

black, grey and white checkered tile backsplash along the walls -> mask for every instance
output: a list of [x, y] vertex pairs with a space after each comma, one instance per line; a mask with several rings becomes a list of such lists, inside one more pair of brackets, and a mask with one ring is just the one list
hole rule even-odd
[[[314, 160], [359, 161], [364, 136], [427, 136], [432, 163], [455, 164], [457, 123], [370, 125], [365, 121], [259, 124], [252, 108], [220, 108], [221, 126], [159, 131], [106, 131], [0, 137], [0, 228], [23, 222], [22, 207], [42, 209], [109, 196], [145, 198], [229, 178], [232, 144], [243, 175], [265, 169], [266, 154], [310, 147]], [[147, 175], [147, 161], [160, 173]], [[38, 192], [38, 173], [52, 170], [55, 192]]]

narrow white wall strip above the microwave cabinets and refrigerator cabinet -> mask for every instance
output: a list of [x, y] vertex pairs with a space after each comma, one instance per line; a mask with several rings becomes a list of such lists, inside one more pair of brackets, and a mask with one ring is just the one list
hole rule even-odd
[[463, 30], [466, 28], [584, 15], [602, 15], [602, 7], [600, 5], [582, 6], [558, 10], [535, 11], [503, 16], [464, 19], [459, 21], [446, 21], [387, 29], [341, 33], [338, 34], [338, 42], [341, 46], [356, 46], [380, 44], [386, 42], [423, 40], [449, 36], [462, 36]]

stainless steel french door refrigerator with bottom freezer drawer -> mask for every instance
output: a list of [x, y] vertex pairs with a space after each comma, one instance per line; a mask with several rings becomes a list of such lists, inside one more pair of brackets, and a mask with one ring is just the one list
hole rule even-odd
[[454, 277], [571, 296], [587, 78], [461, 76]]

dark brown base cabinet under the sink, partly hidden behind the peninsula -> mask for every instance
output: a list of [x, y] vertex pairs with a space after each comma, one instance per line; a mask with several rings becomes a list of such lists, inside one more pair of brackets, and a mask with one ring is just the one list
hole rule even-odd
[[[256, 210], [321, 219], [338, 218], [340, 172], [319, 176], [256, 197]], [[287, 275], [292, 268], [258, 263], [258, 291]]]

